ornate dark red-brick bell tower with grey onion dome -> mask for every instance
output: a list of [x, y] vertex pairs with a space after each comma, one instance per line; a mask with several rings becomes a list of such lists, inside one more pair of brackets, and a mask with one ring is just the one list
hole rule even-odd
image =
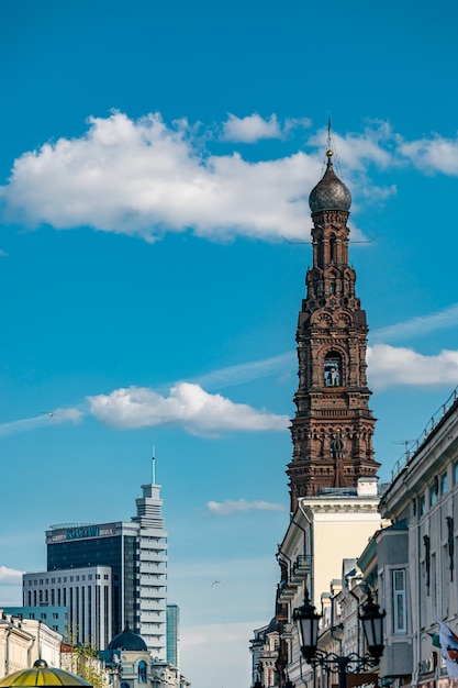
[[293, 456], [288, 465], [291, 511], [298, 499], [323, 488], [353, 488], [376, 476], [366, 379], [366, 312], [356, 298], [356, 273], [348, 265], [347, 221], [351, 196], [338, 179], [332, 151], [312, 190], [313, 267], [299, 313], [299, 387], [291, 421]]

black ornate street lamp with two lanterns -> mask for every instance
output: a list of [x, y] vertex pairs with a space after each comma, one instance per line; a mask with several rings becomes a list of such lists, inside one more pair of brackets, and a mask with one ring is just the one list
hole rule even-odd
[[357, 653], [337, 655], [333, 652], [323, 652], [317, 647], [319, 623], [321, 614], [310, 601], [309, 590], [305, 588], [304, 603], [294, 609], [293, 619], [299, 626], [301, 652], [304, 659], [312, 666], [322, 666], [328, 672], [338, 675], [338, 688], [346, 688], [348, 667], [356, 673], [364, 672], [378, 665], [383, 654], [383, 617], [386, 612], [372, 600], [369, 591], [367, 601], [361, 606], [358, 618], [362, 623], [369, 654], [360, 656]]

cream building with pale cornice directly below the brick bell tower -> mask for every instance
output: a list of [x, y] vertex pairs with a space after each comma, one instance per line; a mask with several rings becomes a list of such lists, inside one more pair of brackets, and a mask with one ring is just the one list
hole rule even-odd
[[[381, 529], [378, 504], [376, 480], [364, 478], [356, 490], [335, 489], [320, 497], [303, 498], [279, 545], [277, 558], [281, 582], [278, 603], [283, 608], [286, 619], [282, 631], [288, 656], [286, 674], [297, 686], [311, 680], [312, 672], [301, 656], [293, 611], [303, 603], [306, 587], [312, 603], [324, 613], [322, 630], [332, 625], [326, 610], [333, 580], [338, 581], [339, 590], [343, 561], [350, 557], [356, 561], [375, 532]], [[351, 615], [357, 619], [355, 610]], [[333, 647], [339, 640], [329, 636], [328, 642]]]

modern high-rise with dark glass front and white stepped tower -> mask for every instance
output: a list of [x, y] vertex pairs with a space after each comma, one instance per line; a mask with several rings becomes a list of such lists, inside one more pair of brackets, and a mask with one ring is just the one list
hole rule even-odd
[[55, 525], [47, 570], [24, 574], [23, 604], [67, 607], [69, 632], [104, 650], [125, 625], [166, 658], [167, 533], [160, 485], [142, 486], [129, 522]]

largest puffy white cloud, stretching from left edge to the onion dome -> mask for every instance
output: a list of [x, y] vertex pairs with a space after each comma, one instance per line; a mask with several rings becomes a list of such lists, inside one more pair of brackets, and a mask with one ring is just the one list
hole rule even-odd
[[320, 163], [302, 152], [259, 163], [205, 155], [186, 122], [115, 112], [90, 118], [80, 138], [18, 158], [2, 196], [7, 214], [29, 226], [88, 225], [148, 241], [188, 229], [213, 240], [299, 237], [319, 174]]

